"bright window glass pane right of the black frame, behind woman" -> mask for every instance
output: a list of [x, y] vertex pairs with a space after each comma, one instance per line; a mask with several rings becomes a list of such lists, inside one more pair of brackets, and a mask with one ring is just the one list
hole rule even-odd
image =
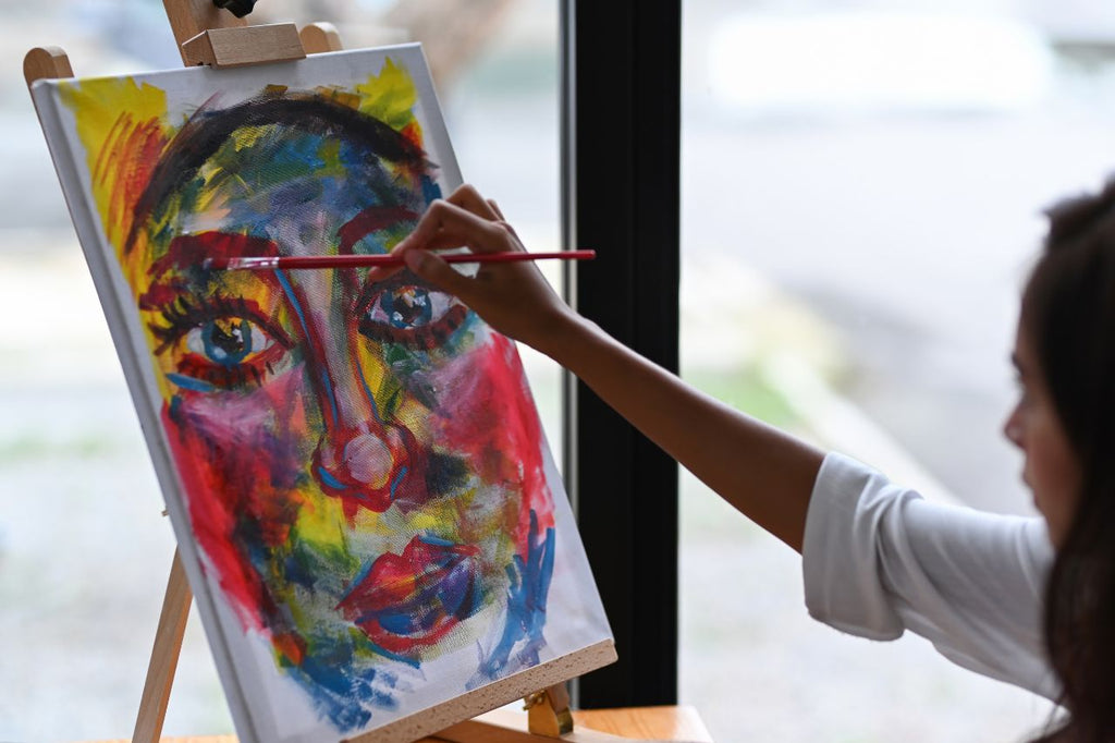
[[[928, 496], [1032, 514], [1000, 435], [1041, 210], [1115, 165], [1089, 3], [685, 7], [682, 368]], [[806, 616], [801, 560], [682, 482], [681, 697], [717, 740], [1016, 740], [1049, 706]]]

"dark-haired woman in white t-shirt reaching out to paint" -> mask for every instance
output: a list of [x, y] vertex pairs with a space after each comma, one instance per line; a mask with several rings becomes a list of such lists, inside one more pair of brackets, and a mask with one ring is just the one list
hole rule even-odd
[[[466, 278], [429, 251], [523, 250], [465, 186], [395, 248], [411, 271], [576, 374], [740, 512], [803, 553], [809, 612], [844, 631], [905, 629], [952, 660], [1059, 701], [1043, 741], [1115, 739], [1115, 184], [1050, 213], [1014, 360], [1006, 435], [1043, 519], [923, 501], [882, 475], [685, 385], [554, 295], [531, 266]], [[386, 278], [387, 271], [380, 271]], [[647, 401], [655, 401], [648, 405]], [[1044, 618], [1043, 618], [1044, 612]]]

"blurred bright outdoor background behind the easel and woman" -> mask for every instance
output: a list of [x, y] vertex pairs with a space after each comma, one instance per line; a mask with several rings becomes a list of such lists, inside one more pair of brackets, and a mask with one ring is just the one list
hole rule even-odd
[[[263, 0], [271, 20], [424, 41], [466, 180], [558, 248], [558, 0]], [[20, 73], [41, 45], [78, 75], [180, 61], [154, 0], [2, 0], [0, 21], [0, 741], [126, 737], [173, 540]], [[683, 29], [683, 376], [931, 498], [1032, 513], [999, 434], [1017, 297], [1041, 210], [1115, 164], [1115, 9], [687, 0]], [[524, 355], [558, 443], [559, 373]], [[918, 638], [812, 623], [797, 556], [688, 475], [681, 511], [680, 697], [717, 741], [1047, 718]], [[196, 617], [165, 731], [231, 731]]]

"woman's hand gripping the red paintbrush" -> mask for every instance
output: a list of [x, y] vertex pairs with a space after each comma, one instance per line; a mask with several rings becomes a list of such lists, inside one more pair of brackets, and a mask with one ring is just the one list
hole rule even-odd
[[[430, 252], [462, 245], [474, 253], [525, 252], [495, 203], [463, 185], [448, 199], [432, 203], [414, 232], [391, 253], [403, 255], [421, 279], [459, 297], [500, 332], [553, 356], [560, 336], [576, 316], [537, 267], [529, 261], [482, 263], [475, 277], [467, 277]], [[378, 269], [368, 278], [381, 280], [390, 273]]]

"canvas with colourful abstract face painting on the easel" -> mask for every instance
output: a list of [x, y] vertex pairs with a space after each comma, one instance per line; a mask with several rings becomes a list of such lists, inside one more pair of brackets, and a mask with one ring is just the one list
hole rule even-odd
[[459, 184], [419, 47], [32, 95], [241, 740], [610, 648], [513, 342], [406, 271], [204, 264], [384, 253]]

